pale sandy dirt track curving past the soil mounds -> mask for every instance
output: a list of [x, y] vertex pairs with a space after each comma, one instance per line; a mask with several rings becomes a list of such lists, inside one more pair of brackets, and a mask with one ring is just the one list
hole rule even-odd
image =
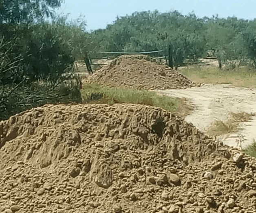
[[[202, 131], [207, 130], [214, 120], [225, 121], [230, 112], [256, 113], [256, 89], [238, 88], [231, 85], [203, 85], [189, 89], [157, 91], [168, 96], [187, 98], [196, 106], [185, 120], [192, 122]], [[219, 140], [229, 146], [237, 146], [238, 134], [244, 136], [243, 148], [256, 139], [256, 116], [241, 124], [235, 134], [222, 135]]]

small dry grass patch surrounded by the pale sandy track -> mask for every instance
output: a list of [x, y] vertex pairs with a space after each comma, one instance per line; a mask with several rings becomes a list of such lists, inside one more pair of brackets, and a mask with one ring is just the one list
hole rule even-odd
[[216, 120], [212, 126], [207, 130], [209, 135], [225, 135], [228, 133], [235, 133], [239, 130], [241, 122], [247, 122], [254, 116], [252, 113], [240, 112], [230, 113], [227, 121]]

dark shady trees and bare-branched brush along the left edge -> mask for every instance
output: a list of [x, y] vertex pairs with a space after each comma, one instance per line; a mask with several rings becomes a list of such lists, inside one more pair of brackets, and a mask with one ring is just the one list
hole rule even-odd
[[0, 120], [43, 104], [81, 102], [72, 68], [86, 41], [79, 40], [83, 23], [57, 18], [61, 3], [0, 0]]

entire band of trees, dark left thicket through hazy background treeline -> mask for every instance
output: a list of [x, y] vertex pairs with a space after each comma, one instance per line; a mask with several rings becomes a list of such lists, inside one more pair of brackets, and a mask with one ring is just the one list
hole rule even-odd
[[81, 102], [73, 64], [89, 51], [163, 50], [155, 55], [160, 57], [172, 45], [176, 67], [209, 51], [220, 67], [256, 67], [256, 20], [135, 12], [89, 33], [84, 20], [56, 17], [61, 4], [0, 0], [0, 120], [46, 103]]

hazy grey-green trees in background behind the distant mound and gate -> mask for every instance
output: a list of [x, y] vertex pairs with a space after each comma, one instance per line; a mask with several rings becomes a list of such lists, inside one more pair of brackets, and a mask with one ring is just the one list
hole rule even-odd
[[117, 17], [106, 29], [95, 30], [90, 50], [142, 52], [164, 50], [173, 46], [176, 66], [184, 61], [196, 62], [211, 52], [219, 60], [234, 68], [244, 63], [256, 67], [256, 20], [236, 17], [198, 18], [178, 11], [135, 12]]

